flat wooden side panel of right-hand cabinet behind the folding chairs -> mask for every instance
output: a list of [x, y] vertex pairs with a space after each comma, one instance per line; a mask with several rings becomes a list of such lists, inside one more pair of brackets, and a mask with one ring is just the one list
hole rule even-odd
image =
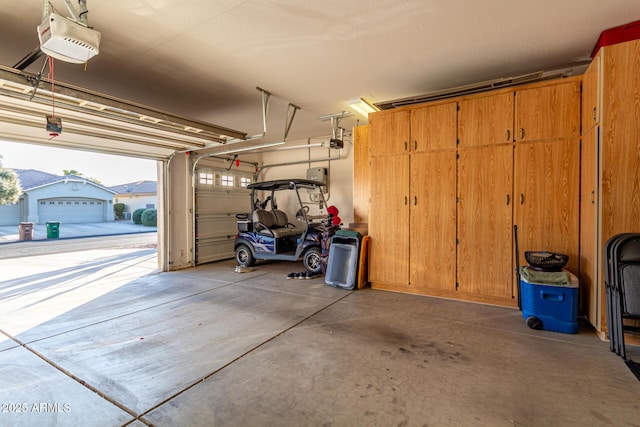
[[[600, 306], [605, 307], [604, 245], [616, 234], [640, 233], [640, 40], [605, 46], [601, 53], [599, 216], [593, 232], [598, 235]], [[606, 320], [601, 316], [604, 333]]]

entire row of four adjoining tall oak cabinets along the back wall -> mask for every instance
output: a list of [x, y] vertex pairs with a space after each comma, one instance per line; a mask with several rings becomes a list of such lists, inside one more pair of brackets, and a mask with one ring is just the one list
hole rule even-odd
[[515, 307], [514, 223], [578, 273], [580, 80], [372, 114], [372, 286]]

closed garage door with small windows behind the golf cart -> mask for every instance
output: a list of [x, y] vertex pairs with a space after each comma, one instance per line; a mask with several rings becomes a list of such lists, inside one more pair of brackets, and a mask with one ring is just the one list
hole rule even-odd
[[235, 256], [237, 213], [251, 211], [252, 172], [200, 166], [195, 182], [196, 264]]

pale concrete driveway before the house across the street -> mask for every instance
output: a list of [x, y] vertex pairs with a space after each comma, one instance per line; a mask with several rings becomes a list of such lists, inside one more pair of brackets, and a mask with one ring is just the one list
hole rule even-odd
[[[60, 239], [108, 236], [116, 234], [150, 233], [157, 231], [156, 227], [134, 224], [131, 221], [94, 222], [85, 224], [60, 224]], [[47, 239], [46, 224], [36, 224], [33, 228], [33, 240]], [[0, 226], [0, 244], [19, 241], [17, 225]]]

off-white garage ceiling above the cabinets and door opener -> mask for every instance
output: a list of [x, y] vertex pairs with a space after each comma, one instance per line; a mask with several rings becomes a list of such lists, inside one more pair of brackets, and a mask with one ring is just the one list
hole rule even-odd
[[[68, 15], [63, 0], [51, 0]], [[74, 1], [75, 5], [76, 2]], [[55, 78], [183, 116], [289, 141], [330, 133], [347, 100], [388, 101], [588, 60], [638, 0], [87, 0], [100, 54]], [[38, 46], [38, 0], [0, 0], [0, 64]], [[42, 59], [27, 69], [37, 73]], [[349, 127], [356, 116], [343, 120]]]

